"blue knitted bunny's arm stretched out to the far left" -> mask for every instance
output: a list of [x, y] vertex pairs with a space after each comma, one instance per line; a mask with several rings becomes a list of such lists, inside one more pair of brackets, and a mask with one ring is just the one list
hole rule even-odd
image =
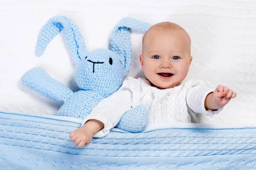
[[73, 92], [62, 85], [44, 71], [43, 68], [33, 68], [21, 77], [21, 83], [39, 94], [54, 99], [58, 102], [66, 102]]

